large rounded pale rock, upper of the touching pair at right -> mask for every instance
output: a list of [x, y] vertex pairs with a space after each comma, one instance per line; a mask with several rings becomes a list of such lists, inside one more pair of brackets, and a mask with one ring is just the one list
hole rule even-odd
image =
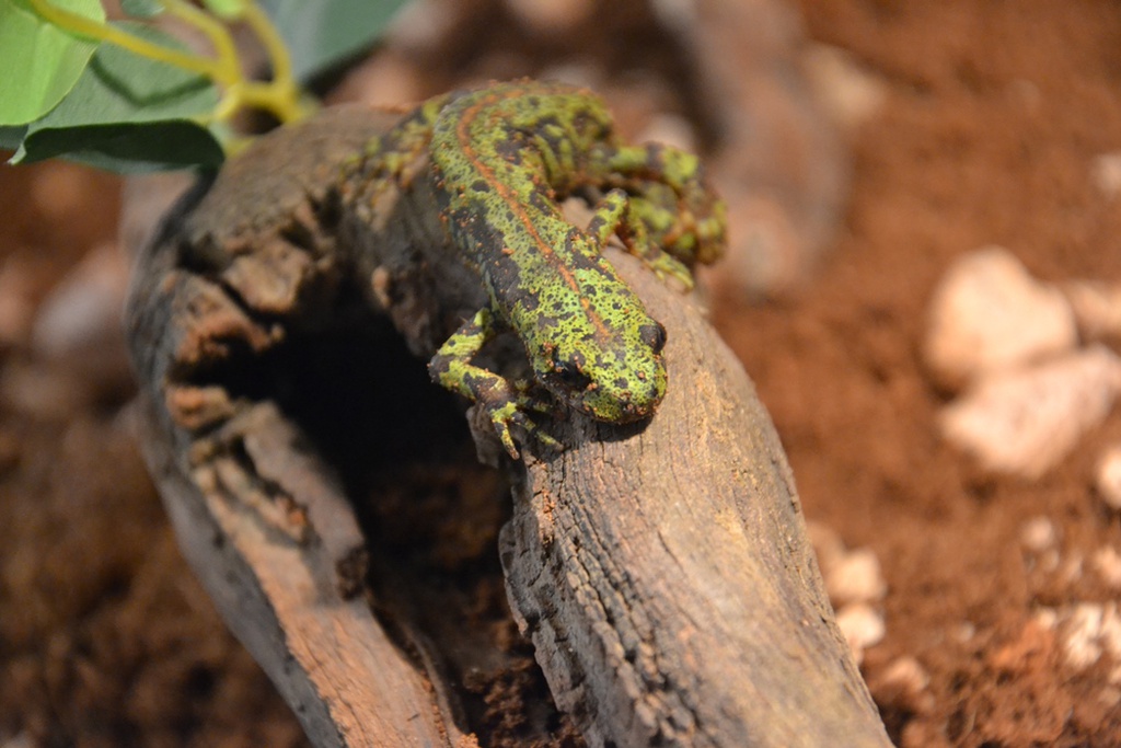
[[938, 381], [956, 389], [1077, 342], [1063, 293], [1032, 278], [1008, 250], [988, 247], [954, 262], [935, 289], [924, 352]]

